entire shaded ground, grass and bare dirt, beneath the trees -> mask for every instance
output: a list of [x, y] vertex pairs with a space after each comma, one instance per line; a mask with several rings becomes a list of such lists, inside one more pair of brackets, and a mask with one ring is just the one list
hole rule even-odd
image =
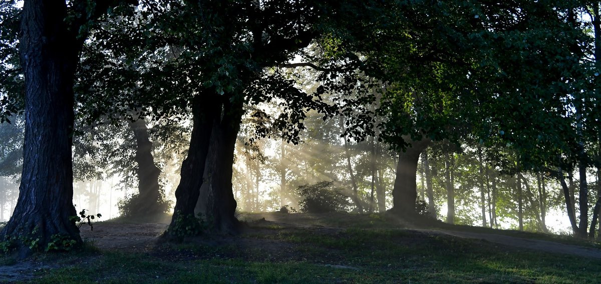
[[166, 223], [82, 228], [88, 249], [0, 259], [8, 283], [599, 283], [597, 243], [371, 214], [249, 213], [236, 236], [157, 242]]

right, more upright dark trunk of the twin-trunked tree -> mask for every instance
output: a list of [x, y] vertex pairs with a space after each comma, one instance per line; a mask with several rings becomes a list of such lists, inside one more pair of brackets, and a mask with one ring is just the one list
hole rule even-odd
[[221, 119], [215, 119], [208, 161], [209, 190], [207, 192], [207, 221], [211, 229], [225, 234], [236, 234], [236, 199], [232, 192], [234, 148], [242, 119], [242, 101], [224, 102]]

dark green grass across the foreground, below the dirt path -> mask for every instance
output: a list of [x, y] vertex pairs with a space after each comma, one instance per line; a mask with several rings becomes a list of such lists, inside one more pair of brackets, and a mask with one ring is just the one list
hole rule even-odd
[[[44, 255], [23, 283], [598, 283], [601, 259], [412, 231], [382, 216], [282, 214], [146, 253]], [[293, 226], [292, 224], [296, 224]], [[297, 226], [304, 225], [304, 226]], [[508, 233], [512, 234], [512, 233]], [[520, 235], [529, 237], [529, 235]], [[0, 262], [2, 263], [2, 262]], [[10, 265], [10, 262], [5, 262]]]

